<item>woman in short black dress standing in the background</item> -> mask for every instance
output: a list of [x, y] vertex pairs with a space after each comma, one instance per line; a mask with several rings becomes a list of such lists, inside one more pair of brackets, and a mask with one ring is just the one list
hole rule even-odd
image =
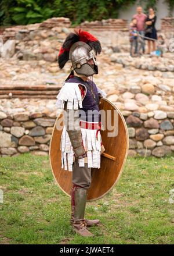
[[150, 54], [151, 52], [151, 43], [153, 44], [153, 51], [156, 50], [156, 44], [155, 44], [155, 40], [157, 40], [157, 30], [155, 29], [155, 22], [157, 20], [157, 16], [154, 13], [154, 9], [153, 8], [149, 8], [148, 9], [148, 16], [146, 19], [146, 34], [145, 36], [150, 38], [147, 39], [148, 42], [148, 54]]

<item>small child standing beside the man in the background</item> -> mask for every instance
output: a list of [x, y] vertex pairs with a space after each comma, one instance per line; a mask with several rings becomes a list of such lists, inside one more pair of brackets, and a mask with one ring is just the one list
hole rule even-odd
[[135, 47], [137, 45], [137, 28], [136, 28], [137, 20], [133, 18], [129, 27], [129, 41], [131, 44], [130, 54], [131, 56], [135, 56]]

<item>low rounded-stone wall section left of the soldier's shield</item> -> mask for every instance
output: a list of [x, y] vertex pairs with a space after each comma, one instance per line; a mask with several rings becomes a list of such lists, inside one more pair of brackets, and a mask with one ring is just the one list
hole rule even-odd
[[31, 151], [37, 155], [48, 155], [49, 141], [55, 118], [42, 113], [16, 113], [7, 116], [0, 112], [1, 156], [18, 155]]

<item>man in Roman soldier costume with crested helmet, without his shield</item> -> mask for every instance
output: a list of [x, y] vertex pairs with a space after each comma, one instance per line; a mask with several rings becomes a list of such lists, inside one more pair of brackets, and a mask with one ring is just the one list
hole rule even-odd
[[73, 171], [71, 225], [82, 236], [93, 236], [88, 227], [100, 223], [98, 219], [85, 219], [84, 214], [91, 169], [100, 168], [100, 154], [104, 151], [99, 101], [106, 94], [92, 80], [93, 74], [98, 73], [95, 55], [101, 51], [100, 42], [92, 34], [75, 30], [67, 36], [58, 56], [60, 69], [68, 60], [72, 63], [56, 106], [66, 113], [60, 149], [61, 168]]

